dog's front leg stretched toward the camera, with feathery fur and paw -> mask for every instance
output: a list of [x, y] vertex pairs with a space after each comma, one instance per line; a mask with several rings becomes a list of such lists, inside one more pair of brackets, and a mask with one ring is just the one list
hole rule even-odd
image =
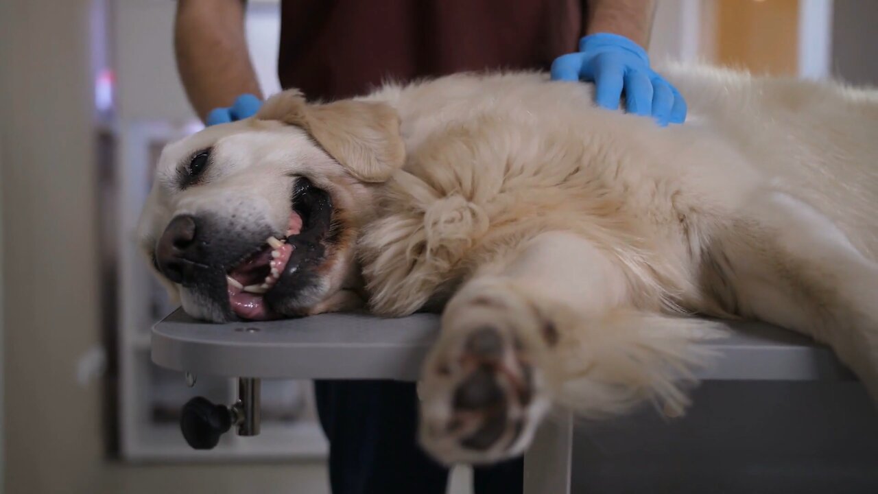
[[697, 363], [703, 323], [629, 307], [607, 253], [543, 233], [462, 287], [421, 381], [421, 443], [437, 459], [520, 454], [552, 403], [601, 417], [658, 399], [680, 411], [675, 379]]

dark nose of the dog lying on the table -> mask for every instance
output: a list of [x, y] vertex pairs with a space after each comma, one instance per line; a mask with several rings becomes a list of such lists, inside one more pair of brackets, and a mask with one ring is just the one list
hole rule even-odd
[[185, 283], [191, 280], [192, 267], [200, 262], [195, 218], [188, 214], [176, 216], [162, 233], [155, 248], [155, 261], [168, 280]]

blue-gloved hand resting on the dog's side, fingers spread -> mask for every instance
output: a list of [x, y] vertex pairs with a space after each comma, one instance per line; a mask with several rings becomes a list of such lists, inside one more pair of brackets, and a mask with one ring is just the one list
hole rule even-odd
[[595, 102], [615, 110], [625, 91], [628, 113], [651, 115], [659, 125], [686, 120], [686, 101], [650, 68], [644, 48], [618, 34], [598, 33], [579, 41], [579, 53], [565, 54], [551, 64], [558, 81], [594, 81]]

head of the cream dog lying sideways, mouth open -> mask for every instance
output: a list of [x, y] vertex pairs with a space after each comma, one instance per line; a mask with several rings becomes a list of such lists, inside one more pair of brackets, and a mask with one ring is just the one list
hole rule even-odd
[[[309, 105], [298, 91], [255, 118], [169, 144], [140, 244], [191, 316], [222, 322], [338, 309], [375, 185], [403, 163], [389, 105]], [[336, 297], [340, 298], [340, 297]]]

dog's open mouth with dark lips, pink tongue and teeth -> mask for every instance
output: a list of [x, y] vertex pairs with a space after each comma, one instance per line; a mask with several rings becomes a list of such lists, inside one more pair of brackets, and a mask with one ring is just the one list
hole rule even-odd
[[274, 299], [289, 294], [299, 267], [322, 260], [320, 243], [331, 228], [331, 210], [327, 193], [306, 178], [297, 180], [285, 236], [269, 236], [257, 251], [226, 272], [229, 308], [235, 316], [255, 321], [277, 317], [267, 299], [284, 282], [286, 289], [274, 294]]

